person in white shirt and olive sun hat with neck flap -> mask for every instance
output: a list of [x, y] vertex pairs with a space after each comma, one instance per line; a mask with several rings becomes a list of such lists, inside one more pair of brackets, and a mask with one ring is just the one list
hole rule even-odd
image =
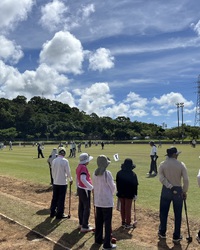
[[103, 225], [105, 225], [103, 249], [116, 248], [116, 245], [111, 243], [113, 195], [116, 192], [116, 185], [111, 172], [106, 169], [109, 164], [110, 159], [108, 157], [105, 155], [98, 156], [98, 167], [93, 174], [94, 206], [96, 208], [95, 243], [102, 244]]

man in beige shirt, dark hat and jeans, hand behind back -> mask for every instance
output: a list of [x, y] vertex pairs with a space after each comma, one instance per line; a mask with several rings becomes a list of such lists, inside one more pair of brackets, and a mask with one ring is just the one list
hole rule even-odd
[[166, 238], [167, 218], [171, 202], [174, 209], [173, 241], [179, 242], [181, 236], [183, 200], [187, 197], [189, 179], [187, 168], [183, 162], [177, 160], [181, 152], [177, 148], [167, 149], [167, 158], [160, 163], [159, 180], [162, 183], [160, 197], [160, 225], [158, 236]]

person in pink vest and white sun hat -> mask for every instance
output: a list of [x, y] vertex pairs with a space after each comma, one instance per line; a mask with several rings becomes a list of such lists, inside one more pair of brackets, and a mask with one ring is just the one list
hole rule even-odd
[[90, 232], [94, 228], [89, 225], [91, 191], [93, 190], [92, 180], [88, 171], [88, 164], [93, 157], [87, 153], [79, 156], [79, 164], [76, 168], [77, 194], [79, 197], [78, 218], [79, 228], [83, 233]]

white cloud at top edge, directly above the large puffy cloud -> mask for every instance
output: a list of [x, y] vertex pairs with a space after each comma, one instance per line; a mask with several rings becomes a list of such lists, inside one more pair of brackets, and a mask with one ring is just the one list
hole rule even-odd
[[65, 20], [64, 14], [68, 12], [68, 7], [63, 2], [54, 0], [42, 6], [41, 12], [40, 23], [42, 26], [50, 31], [55, 31], [63, 24], [63, 20]]

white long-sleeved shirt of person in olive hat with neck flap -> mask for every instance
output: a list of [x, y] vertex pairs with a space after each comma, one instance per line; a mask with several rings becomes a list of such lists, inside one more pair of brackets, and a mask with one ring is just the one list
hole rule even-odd
[[94, 205], [96, 207], [113, 207], [113, 195], [116, 193], [116, 184], [112, 174], [106, 170], [103, 175], [93, 174]]

